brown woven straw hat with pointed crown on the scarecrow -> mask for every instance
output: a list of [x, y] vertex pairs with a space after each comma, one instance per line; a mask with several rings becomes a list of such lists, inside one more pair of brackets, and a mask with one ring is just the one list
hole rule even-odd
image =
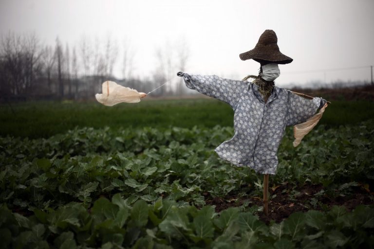
[[267, 29], [260, 36], [254, 49], [241, 53], [239, 56], [242, 60], [254, 59], [260, 63], [263, 61], [271, 61], [277, 64], [291, 63], [293, 59], [279, 51], [277, 42], [278, 38], [275, 32]]

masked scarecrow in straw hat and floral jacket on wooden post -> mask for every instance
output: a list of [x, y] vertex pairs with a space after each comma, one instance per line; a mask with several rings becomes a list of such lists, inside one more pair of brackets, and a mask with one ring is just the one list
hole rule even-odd
[[215, 151], [236, 166], [248, 166], [264, 175], [263, 205], [266, 214], [268, 177], [276, 174], [277, 151], [285, 127], [295, 125], [293, 144], [297, 146], [317, 125], [327, 107], [327, 101], [322, 98], [275, 86], [274, 80], [280, 75], [278, 64], [293, 61], [280, 52], [277, 42], [275, 32], [265, 30], [254, 49], [239, 55], [242, 60], [253, 59], [260, 63], [257, 76], [231, 80], [216, 75], [177, 73], [189, 89], [224, 101], [233, 108], [234, 136]]

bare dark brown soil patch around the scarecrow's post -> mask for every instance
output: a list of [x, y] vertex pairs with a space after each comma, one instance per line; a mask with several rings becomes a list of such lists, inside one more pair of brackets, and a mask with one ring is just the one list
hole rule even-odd
[[[329, 196], [320, 196], [317, 198], [314, 196], [320, 190], [323, 189], [322, 184], [312, 185], [307, 184], [299, 188], [293, 188], [289, 184], [281, 185], [273, 189], [269, 188], [269, 196], [274, 196], [269, 199], [268, 202], [268, 214], [264, 212], [256, 213], [259, 219], [265, 222], [267, 225], [271, 220], [281, 222], [284, 218], [287, 218], [291, 213], [298, 211], [307, 212], [308, 210], [322, 210], [321, 205], [326, 205], [330, 209], [334, 205], [345, 206], [347, 210], [352, 211], [357, 205], [373, 204], [372, 198], [370, 197], [373, 193], [368, 193], [359, 187], [355, 187], [355, 193], [351, 196], [337, 196], [335, 198]], [[298, 192], [296, 195], [290, 195], [292, 191]], [[313, 206], [311, 204], [311, 198], [318, 199], [318, 204]], [[238, 196], [225, 196], [224, 198], [211, 197], [207, 193], [206, 204], [215, 205], [215, 211], [221, 212], [230, 207], [240, 207], [245, 201], [250, 201], [247, 208], [253, 205], [261, 207], [263, 205], [262, 196], [254, 197], [238, 197]]]

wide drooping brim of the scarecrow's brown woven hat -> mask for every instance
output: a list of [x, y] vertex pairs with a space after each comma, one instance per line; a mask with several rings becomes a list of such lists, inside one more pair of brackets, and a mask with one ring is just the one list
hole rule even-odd
[[258, 51], [256, 49], [252, 49], [245, 53], [239, 54], [239, 56], [241, 60], [260, 59], [260, 60], [271, 61], [277, 64], [288, 64], [293, 61], [291, 57], [288, 57], [287, 55], [284, 55], [283, 53], [279, 51], [263, 52], [263, 51]]

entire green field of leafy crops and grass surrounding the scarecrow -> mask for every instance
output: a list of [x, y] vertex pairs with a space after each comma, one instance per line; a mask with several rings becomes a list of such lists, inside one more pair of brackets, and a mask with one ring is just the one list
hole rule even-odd
[[374, 103], [334, 101], [262, 179], [211, 99], [0, 106], [0, 247], [373, 248]]

